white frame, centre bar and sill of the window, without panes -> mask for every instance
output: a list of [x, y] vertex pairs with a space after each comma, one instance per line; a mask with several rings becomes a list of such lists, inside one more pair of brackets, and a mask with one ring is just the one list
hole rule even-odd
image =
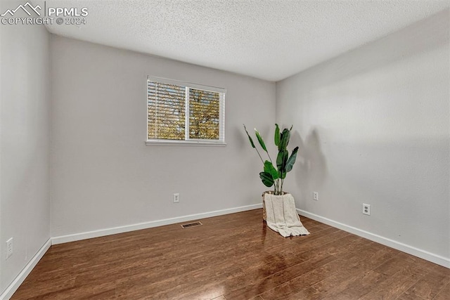
[[[184, 140], [169, 140], [163, 138], [148, 138], [148, 81], [156, 81], [161, 84], [174, 84], [176, 86], [185, 86], [187, 91], [189, 89], [199, 89], [203, 91], [212, 91], [214, 93], [219, 93], [219, 139], [218, 140], [206, 140], [206, 139], [195, 139], [189, 138], [189, 98], [185, 97], [185, 133]], [[188, 94], [188, 92], [187, 92]], [[147, 76], [146, 81], [146, 118], [147, 118], [147, 129], [146, 129], [146, 145], [210, 145], [210, 146], [224, 146], [225, 143], [225, 97], [226, 89], [219, 88], [216, 86], [205, 86], [203, 84], [193, 84], [191, 82], [179, 81], [174, 79], [168, 79], [163, 77]]]

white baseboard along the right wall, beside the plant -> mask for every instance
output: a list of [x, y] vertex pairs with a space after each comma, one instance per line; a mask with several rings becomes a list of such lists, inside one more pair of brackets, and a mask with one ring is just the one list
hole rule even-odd
[[420, 259], [425, 259], [426, 261], [431, 261], [432, 263], [437, 263], [440, 266], [444, 266], [446, 268], [450, 268], [450, 259], [439, 256], [437, 254], [433, 254], [431, 252], [427, 252], [423, 249], [418, 249], [416, 247], [409, 246], [408, 244], [403, 244], [401, 242], [397, 242], [395, 240], [388, 239], [387, 237], [382, 237], [380, 235], [375, 235], [374, 233], [369, 233], [368, 231], [361, 230], [352, 226], [345, 225], [340, 222], [336, 222], [323, 216], [318, 216], [316, 214], [311, 214], [308, 211], [304, 211], [302, 209], [297, 209], [297, 212], [301, 216], [306, 216], [309, 219], [313, 219], [319, 221], [321, 223], [325, 223], [327, 225], [333, 226], [335, 228], [339, 228], [341, 230], [347, 231], [348, 233], [353, 233], [354, 235], [358, 235], [360, 237], [364, 237], [373, 242], [378, 242], [380, 244], [384, 244], [387, 247], [391, 247], [397, 249], [401, 252], [405, 252], [407, 254], [411, 254], [413, 256], [420, 257]]

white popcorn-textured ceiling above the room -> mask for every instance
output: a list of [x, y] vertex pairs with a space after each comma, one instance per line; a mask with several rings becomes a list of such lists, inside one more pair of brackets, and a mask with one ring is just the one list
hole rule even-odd
[[[44, 1], [32, 1], [43, 4]], [[278, 81], [450, 6], [450, 0], [60, 1], [86, 7], [86, 25], [49, 31]]]

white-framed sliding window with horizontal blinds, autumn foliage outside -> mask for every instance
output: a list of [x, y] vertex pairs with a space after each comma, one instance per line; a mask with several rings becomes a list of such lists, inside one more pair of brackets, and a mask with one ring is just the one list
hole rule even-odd
[[225, 89], [148, 77], [147, 144], [224, 145]]

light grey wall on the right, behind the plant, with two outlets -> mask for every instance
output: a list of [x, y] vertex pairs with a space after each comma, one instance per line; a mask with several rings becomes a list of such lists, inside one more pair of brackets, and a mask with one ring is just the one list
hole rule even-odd
[[276, 119], [302, 145], [297, 207], [450, 266], [449, 27], [446, 10], [278, 82]]

